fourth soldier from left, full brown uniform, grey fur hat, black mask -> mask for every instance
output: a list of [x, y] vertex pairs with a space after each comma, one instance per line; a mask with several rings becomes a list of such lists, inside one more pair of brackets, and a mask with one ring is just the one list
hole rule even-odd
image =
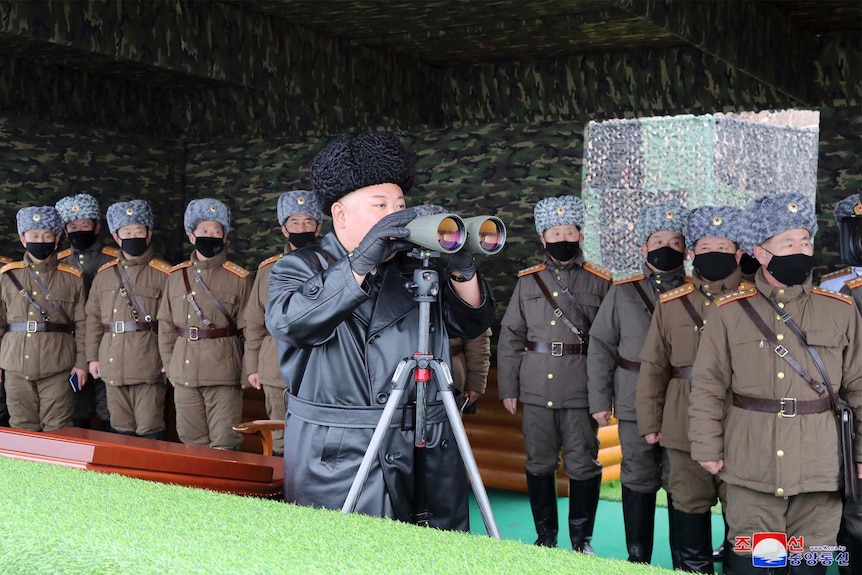
[[236, 449], [242, 415], [240, 330], [249, 272], [227, 261], [230, 210], [210, 198], [192, 200], [183, 218], [195, 246], [168, 277], [159, 304], [159, 352], [174, 386], [177, 434], [183, 443]]

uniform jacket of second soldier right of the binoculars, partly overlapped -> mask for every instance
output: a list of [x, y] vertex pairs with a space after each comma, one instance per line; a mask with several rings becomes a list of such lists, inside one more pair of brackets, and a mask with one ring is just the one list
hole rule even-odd
[[623, 369], [619, 359], [640, 362], [641, 348], [652, 314], [635, 288], [639, 285], [658, 305], [659, 294], [685, 281], [685, 270], [656, 273], [646, 264], [643, 273], [614, 282], [590, 328], [587, 355], [590, 413], [610, 411], [617, 419], [635, 421], [638, 372]]

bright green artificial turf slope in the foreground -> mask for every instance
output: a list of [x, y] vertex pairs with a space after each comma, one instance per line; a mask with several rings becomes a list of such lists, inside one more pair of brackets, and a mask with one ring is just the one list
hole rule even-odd
[[669, 573], [5, 457], [0, 477], [2, 574]]

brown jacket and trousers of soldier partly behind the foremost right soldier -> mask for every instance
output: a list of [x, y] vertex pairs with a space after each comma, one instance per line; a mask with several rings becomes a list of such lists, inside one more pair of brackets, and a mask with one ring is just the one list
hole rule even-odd
[[738, 289], [741, 273], [737, 267], [723, 280], [706, 281], [695, 272], [692, 283], [662, 294], [641, 350], [638, 430], [641, 435], [661, 433], [661, 445], [667, 448], [670, 461], [668, 488], [674, 505], [685, 513], [708, 511], [719, 496], [718, 482], [690, 456], [691, 367], [708, 312], [715, 307], [714, 298]]

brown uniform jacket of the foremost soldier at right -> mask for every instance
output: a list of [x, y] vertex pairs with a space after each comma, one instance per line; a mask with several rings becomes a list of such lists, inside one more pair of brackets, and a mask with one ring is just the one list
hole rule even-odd
[[823, 378], [799, 339], [764, 296], [783, 304], [823, 360], [833, 390], [856, 416], [854, 458], [862, 461], [862, 320], [849, 298], [801, 286], [771, 287], [763, 272], [756, 289], [719, 302], [704, 330], [694, 366], [691, 455], [697, 461], [724, 459], [722, 479], [765, 493], [793, 496], [837, 491], [841, 485], [838, 430], [832, 411], [796, 417], [727, 405], [728, 392], [799, 401], [819, 399], [816, 391], [779, 357], [739, 305], [745, 298], [781, 345], [811, 374]]

